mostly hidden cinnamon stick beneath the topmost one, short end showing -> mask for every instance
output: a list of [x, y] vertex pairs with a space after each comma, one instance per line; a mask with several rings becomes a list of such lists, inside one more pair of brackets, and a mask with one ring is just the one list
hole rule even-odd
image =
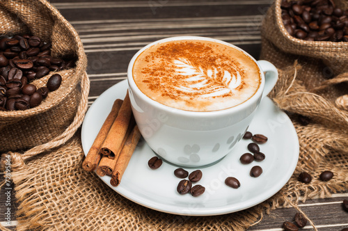
[[[132, 118], [129, 122], [129, 126], [127, 128], [127, 132], [125, 134], [125, 137], [122, 140], [121, 147], [123, 147], [125, 145], [129, 134], [132, 132], [132, 129], [134, 128], [134, 125], [135, 125], [135, 120], [134, 120], [134, 116], [132, 116]], [[118, 150], [116, 157], [119, 156], [121, 150], [122, 150], [122, 148], [120, 148], [120, 150]], [[111, 159], [111, 158], [109, 158], [109, 156], [103, 156], [99, 162], [99, 166], [97, 167], [97, 175], [100, 175], [101, 177], [103, 177], [104, 175], [111, 175], [113, 172], [113, 169], [115, 168], [116, 161], [118, 161], [118, 158]]]

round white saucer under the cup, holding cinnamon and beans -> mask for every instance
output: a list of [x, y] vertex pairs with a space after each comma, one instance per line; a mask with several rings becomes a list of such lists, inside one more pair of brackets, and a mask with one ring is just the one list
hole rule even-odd
[[[123, 99], [127, 81], [121, 81], [106, 90], [90, 106], [82, 125], [81, 140], [87, 154], [115, 99]], [[196, 184], [205, 186], [205, 193], [198, 197], [180, 195], [176, 191], [181, 179], [173, 174], [177, 166], [164, 162], [157, 170], [148, 167], [148, 160], [155, 153], [145, 141], [141, 141], [129, 161], [119, 186], [110, 184], [110, 177], [101, 179], [111, 189], [139, 205], [161, 212], [188, 216], [210, 216], [237, 212], [267, 200], [278, 192], [290, 179], [299, 158], [299, 140], [290, 118], [265, 97], [258, 113], [248, 128], [253, 134], [264, 134], [269, 138], [260, 145], [266, 159], [243, 165], [239, 158], [248, 152], [251, 140], [240, 141], [221, 161], [201, 168], [203, 178]], [[262, 175], [251, 177], [249, 172], [255, 165], [261, 166]], [[186, 168], [189, 173], [194, 169]], [[226, 186], [226, 177], [236, 177], [241, 186], [232, 189]], [[195, 184], [193, 184], [195, 185]]]

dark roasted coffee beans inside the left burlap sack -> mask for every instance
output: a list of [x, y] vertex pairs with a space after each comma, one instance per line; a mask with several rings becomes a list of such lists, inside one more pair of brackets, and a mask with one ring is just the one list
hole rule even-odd
[[31, 109], [61, 86], [60, 74], [42, 88], [31, 83], [50, 71], [74, 67], [73, 60], [52, 57], [51, 47], [35, 35], [0, 36], [0, 111]]

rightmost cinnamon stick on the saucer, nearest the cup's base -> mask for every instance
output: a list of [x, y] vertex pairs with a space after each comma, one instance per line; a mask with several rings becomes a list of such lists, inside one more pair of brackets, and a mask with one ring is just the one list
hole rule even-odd
[[139, 132], [138, 125], [135, 125], [135, 127], [132, 129], [132, 133], [128, 136], [127, 141], [125, 142], [125, 145], [123, 146], [120, 156], [116, 162], [116, 166], [113, 169], [110, 180], [110, 184], [112, 186], [118, 186], [118, 184], [120, 184], [123, 173], [125, 173], [129, 160], [132, 157], [140, 137], [141, 134]]

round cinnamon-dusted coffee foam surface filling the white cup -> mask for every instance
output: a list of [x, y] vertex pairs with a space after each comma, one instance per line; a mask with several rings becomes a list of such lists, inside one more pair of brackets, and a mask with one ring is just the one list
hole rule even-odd
[[239, 49], [207, 40], [163, 42], [134, 62], [138, 88], [185, 111], [217, 111], [242, 104], [261, 82], [258, 65]]

